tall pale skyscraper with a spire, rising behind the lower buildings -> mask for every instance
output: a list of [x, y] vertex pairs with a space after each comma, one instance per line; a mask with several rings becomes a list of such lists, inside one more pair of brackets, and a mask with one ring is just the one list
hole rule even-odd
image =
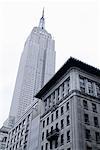
[[55, 45], [45, 30], [44, 10], [38, 27], [27, 38], [20, 59], [9, 125], [13, 125], [32, 103], [33, 96], [55, 73]]

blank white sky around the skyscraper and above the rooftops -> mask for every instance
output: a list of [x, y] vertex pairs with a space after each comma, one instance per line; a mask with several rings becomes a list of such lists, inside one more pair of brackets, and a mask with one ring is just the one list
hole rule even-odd
[[20, 56], [45, 7], [56, 71], [73, 56], [100, 68], [100, 0], [0, 0], [0, 126], [8, 117]]

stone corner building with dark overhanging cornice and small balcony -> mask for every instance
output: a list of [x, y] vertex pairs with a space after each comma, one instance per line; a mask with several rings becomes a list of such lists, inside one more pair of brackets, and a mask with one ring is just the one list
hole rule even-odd
[[74, 58], [36, 94], [39, 150], [100, 150], [100, 70]]

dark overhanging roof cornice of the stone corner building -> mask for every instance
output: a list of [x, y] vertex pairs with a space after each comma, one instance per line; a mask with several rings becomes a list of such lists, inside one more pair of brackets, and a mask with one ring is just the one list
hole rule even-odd
[[35, 95], [35, 97], [41, 98], [50, 89], [50, 87], [52, 87], [57, 82], [57, 80], [59, 80], [72, 67], [78, 67], [88, 73], [100, 77], [99, 69], [70, 57], [57, 71], [57, 73], [46, 83], [46, 85], [44, 85], [44, 87]]

